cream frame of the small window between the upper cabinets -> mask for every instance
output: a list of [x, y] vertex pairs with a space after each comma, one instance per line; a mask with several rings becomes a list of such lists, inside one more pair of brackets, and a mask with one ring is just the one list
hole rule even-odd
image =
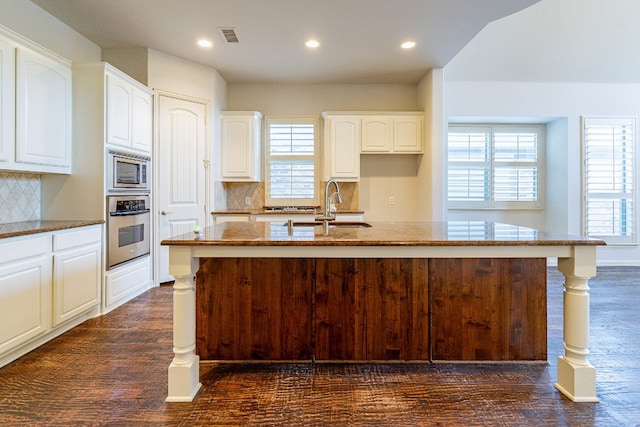
[[[314, 153], [312, 156], [272, 156], [270, 153], [270, 129], [272, 124], [311, 124], [313, 125]], [[265, 206], [287, 207], [287, 206], [318, 206], [319, 200], [319, 176], [320, 176], [320, 120], [318, 116], [266, 116], [264, 126], [264, 181], [265, 181]], [[271, 161], [274, 158], [279, 160], [312, 160], [313, 161], [313, 199], [300, 198], [271, 198]]]

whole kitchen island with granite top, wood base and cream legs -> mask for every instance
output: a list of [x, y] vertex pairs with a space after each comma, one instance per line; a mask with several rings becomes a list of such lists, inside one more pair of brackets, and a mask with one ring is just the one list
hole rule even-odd
[[[566, 278], [556, 388], [597, 401], [588, 280], [604, 242], [482, 221], [370, 225], [230, 222], [163, 241], [175, 277], [167, 401], [193, 400], [202, 352], [242, 360], [546, 360], [549, 257]], [[254, 291], [254, 282], [268, 287]], [[231, 311], [208, 305], [234, 293]], [[208, 310], [216, 323], [232, 316], [240, 326], [216, 331]]]

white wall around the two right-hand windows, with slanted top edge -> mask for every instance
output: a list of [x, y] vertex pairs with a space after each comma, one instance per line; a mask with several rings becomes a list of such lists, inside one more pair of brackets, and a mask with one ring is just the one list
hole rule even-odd
[[[629, 0], [606, 5], [594, 0], [543, 0], [487, 26], [445, 67], [448, 120], [548, 123], [544, 211], [449, 212], [450, 219], [486, 218], [581, 233], [580, 119], [639, 115], [640, 75], [632, 72], [623, 77], [618, 69], [628, 66], [633, 71], [640, 60], [629, 55], [637, 51], [634, 44], [640, 35], [636, 24], [629, 25], [630, 16], [639, 13], [640, 2]], [[624, 58], [616, 60], [604, 52], [599, 40], [603, 26], [609, 26], [606, 38], [614, 53], [620, 45], [626, 47]], [[616, 34], [615, 43], [611, 33]], [[599, 54], [599, 59], [609, 61], [604, 71], [600, 65], [589, 68]], [[622, 78], [627, 82], [620, 82]], [[584, 82], [588, 79], [597, 81]], [[599, 248], [598, 264], [640, 265], [640, 250]]]

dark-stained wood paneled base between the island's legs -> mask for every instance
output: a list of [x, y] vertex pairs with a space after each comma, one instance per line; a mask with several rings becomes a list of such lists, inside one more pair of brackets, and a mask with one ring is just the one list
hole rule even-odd
[[196, 294], [202, 360], [547, 360], [544, 258], [201, 258]]

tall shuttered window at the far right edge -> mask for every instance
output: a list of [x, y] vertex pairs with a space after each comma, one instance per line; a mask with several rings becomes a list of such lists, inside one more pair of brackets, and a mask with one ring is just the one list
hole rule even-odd
[[583, 143], [583, 232], [609, 244], [633, 244], [635, 118], [585, 117]]

